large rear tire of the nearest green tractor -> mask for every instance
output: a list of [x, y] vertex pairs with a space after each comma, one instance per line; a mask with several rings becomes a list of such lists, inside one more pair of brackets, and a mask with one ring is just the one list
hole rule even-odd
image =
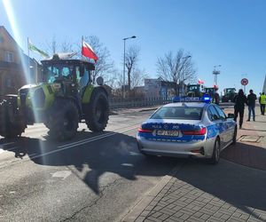
[[106, 92], [96, 88], [85, 111], [85, 120], [90, 131], [104, 131], [109, 120], [109, 103]]

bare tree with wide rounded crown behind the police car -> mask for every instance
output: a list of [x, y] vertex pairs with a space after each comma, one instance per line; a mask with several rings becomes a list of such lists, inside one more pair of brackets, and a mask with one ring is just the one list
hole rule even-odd
[[165, 81], [175, 83], [176, 94], [179, 95], [178, 83], [192, 81], [196, 77], [196, 70], [190, 53], [179, 50], [174, 54], [168, 52], [157, 60], [157, 73]]

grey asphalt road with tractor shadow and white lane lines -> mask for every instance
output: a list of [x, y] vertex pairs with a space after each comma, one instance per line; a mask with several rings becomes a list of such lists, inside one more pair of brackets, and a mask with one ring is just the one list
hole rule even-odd
[[137, 151], [137, 127], [153, 111], [111, 115], [106, 131], [80, 124], [57, 143], [43, 124], [0, 139], [0, 221], [119, 221], [176, 165]]

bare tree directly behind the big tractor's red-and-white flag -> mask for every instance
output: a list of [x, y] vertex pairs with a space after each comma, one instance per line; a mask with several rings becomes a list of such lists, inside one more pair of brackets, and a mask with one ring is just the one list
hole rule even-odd
[[91, 48], [98, 56], [98, 60], [95, 63], [95, 70], [91, 75], [92, 83], [95, 83], [98, 76], [105, 78], [106, 83], [111, 82], [112, 77], [110, 78], [110, 75], [113, 74], [114, 68], [113, 60], [110, 59], [110, 52], [106, 46], [99, 41], [98, 36], [84, 36], [84, 41], [90, 44]]

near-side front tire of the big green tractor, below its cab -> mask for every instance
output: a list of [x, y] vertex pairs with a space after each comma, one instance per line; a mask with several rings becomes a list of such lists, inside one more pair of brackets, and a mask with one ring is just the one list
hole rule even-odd
[[73, 139], [79, 124], [78, 108], [72, 100], [58, 99], [51, 107], [46, 126], [48, 134], [59, 141]]

